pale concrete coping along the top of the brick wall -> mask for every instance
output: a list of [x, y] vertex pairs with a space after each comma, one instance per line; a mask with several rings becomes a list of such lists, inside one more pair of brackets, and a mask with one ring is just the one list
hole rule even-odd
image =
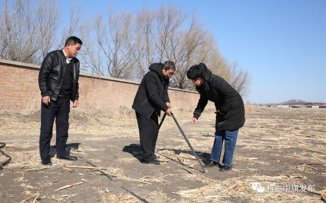
[[[40, 69], [40, 67], [41, 67], [40, 65], [35, 65], [35, 64], [30, 64], [30, 63], [23, 63], [23, 62], [18, 62], [18, 61], [11, 61], [11, 60], [6, 60], [6, 59], [0, 59], [0, 63], [9, 64], [9, 65], [16, 65], [16, 66], [23, 66], [23, 67], [34, 68], [34, 69]], [[136, 82], [136, 81], [124, 80], [124, 79], [118, 79], [118, 78], [111, 78], [111, 77], [107, 77], [107, 76], [100, 76], [100, 75], [94, 75], [94, 74], [83, 73], [83, 72], [80, 72], [79, 75], [84, 76], [84, 77], [100, 78], [100, 79], [104, 79], [104, 80], [126, 82], [126, 83], [131, 83], [131, 84], [140, 84], [140, 82]], [[190, 93], [198, 94], [198, 92], [195, 92], [195, 91], [182, 90], [182, 89], [173, 88], [173, 87], [169, 87], [169, 89], [170, 90], [181, 91], [181, 92], [190, 92]]]

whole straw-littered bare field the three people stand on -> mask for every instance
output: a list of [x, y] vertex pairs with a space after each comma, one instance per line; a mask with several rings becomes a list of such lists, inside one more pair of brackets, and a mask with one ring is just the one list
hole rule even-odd
[[[204, 112], [196, 125], [190, 123], [191, 111], [174, 112], [203, 162], [214, 141], [213, 112]], [[67, 149], [78, 160], [56, 159], [54, 134], [53, 165], [44, 167], [39, 117], [39, 112], [0, 114], [2, 150], [12, 157], [0, 171], [0, 202], [29, 197], [30, 202], [140, 202], [127, 190], [148, 202], [323, 202], [320, 194], [326, 193], [326, 109], [246, 109], [233, 170], [207, 173], [170, 117], [156, 145], [162, 163], [142, 164], [136, 118], [127, 108], [72, 110]], [[0, 154], [0, 162], [5, 160]], [[255, 182], [264, 193], [252, 189]]]

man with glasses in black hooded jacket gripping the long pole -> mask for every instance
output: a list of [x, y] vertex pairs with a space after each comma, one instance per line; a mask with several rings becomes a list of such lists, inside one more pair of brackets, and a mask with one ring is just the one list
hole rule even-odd
[[175, 71], [172, 61], [153, 63], [141, 80], [132, 108], [136, 111], [141, 144], [142, 163], [160, 164], [155, 152], [158, 116], [161, 110], [172, 115], [168, 95], [169, 78]]

